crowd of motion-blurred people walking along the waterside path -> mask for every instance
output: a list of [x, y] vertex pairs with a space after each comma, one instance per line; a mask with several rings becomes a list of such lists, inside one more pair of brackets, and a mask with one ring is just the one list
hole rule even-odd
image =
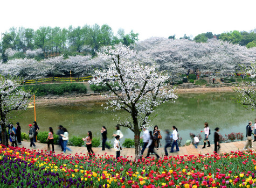
[[[34, 147], [36, 148], [36, 144], [35, 142], [37, 141], [37, 134], [38, 134], [38, 130], [39, 130], [39, 126], [37, 125], [37, 122], [34, 121], [33, 125], [29, 124], [29, 139], [30, 139], [30, 147]], [[112, 136], [114, 136], [115, 140], [114, 140], [114, 149], [116, 150], [116, 158], [120, 157], [121, 154], [121, 144], [120, 144], [120, 139], [123, 138], [123, 134], [120, 130], [120, 127], [117, 125], [116, 127], [116, 133], [113, 134]], [[252, 148], [252, 132], [254, 129], [254, 141], [256, 141], [256, 119], [255, 119], [255, 124], [252, 127], [252, 121], [250, 121], [248, 123], [248, 125], [246, 126], [246, 144], [244, 149]], [[219, 132], [220, 129], [218, 127], [215, 128], [215, 133], [214, 133], [214, 143], [215, 143], [215, 149], [214, 152], [217, 153], [217, 151], [220, 149], [220, 136], [219, 136]], [[211, 147], [211, 143], [209, 141], [209, 136], [211, 134], [211, 130], [209, 127], [209, 124], [207, 122], [204, 123], [204, 130], [201, 131], [201, 133], [204, 132], [204, 145], [202, 147], [202, 149], [206, 148], [206, 147]], [[53, 128], [49, 127], [49, 134], [47, 137], [47, 146], [50, 150], [50, 145], [52, 147], [52, 151], [54, 151], [54, 138], [53, 138]], [[0, 134], [1, 135], [1, 134]], [[58, 139], [58, 143], [61, 147], [61, 151], [63, 151], [64, 153], [66, 153], [66, 150], [68, 151], [72, 151], [70, 148], [67, 147], [67, 143], [68, 143], [68, 131], [65, 127], [59, 125], [58, 126], [58, 131], [57, 131], [57, 135], [59, 136]], [[105, 126], [101, 127], [101, 135], [102, 135], [102, 151], [105, 150], [105, 148], [110, 149], [109, 144], [107, 143], [107, 128]], [[195, 134], [192, 135], [193, 140], [192, 143], [195, 146], [195, 148], [198, 148], [198, 144], [200, 142], [198, 136], [196, 136]], [[0, 138], [2, 140], [2, 138]], [[87, 137], [86, 138], [82, 138], [83, 141], [85, 141], [86, 143], [86, 148], [88, 151], [89, 156], [94, 154], [94, 151], [92, 150], [92, 139], [93, 139], [93, 135], [91, 131], [87, 132]], [[156, 153], [155, 149], [158, 150], [159, 146], [162, 146], [161, 144], [161, 139], [162, 139], [162, 135], [161, 135], [161, 129], [158, 128], [158, 126], [154, 126], [153, 131], [148, 131], [148, 129], [143, 128], [143, 135], [141, 136], [141, 138], [143, 140], [143, 146], [141, 149], [141, 156], [144, 153], [144, 150], [146, 150], [146, 148], [148, 148], [148, 153], [147, 156], [148, 157], [150, 154], [155, 154], [157, 158], [159, 158], [160, 156]], [[13, 126], [12, 124], [8, 125], [8, 134], [6, 134], [6, 142], [8, 143], [8, 141], [10, 140], [11, 142], [11, 146], [15, 146], [17, 147], [18, 145], [22, 144], [21, 141], [21, 127], [19, 125], [19, 122], [16, 123], [16, 126]], [[179, 151], [179, 146], [178, 146], [178, 129], [176, 126], [172, 126], [172, 133], [170, 133], [170, 131], [167, 129], [165, 130], [165, 146], [164, 146], [164, 153], [165, 156], [168, 156], [168, 151], [167, 148], [170, 148], [170, 153], [174, 152], [174, 148], [176, 148], [175, 151]], [[207, 146], [206, 146], [207, 144]]]

